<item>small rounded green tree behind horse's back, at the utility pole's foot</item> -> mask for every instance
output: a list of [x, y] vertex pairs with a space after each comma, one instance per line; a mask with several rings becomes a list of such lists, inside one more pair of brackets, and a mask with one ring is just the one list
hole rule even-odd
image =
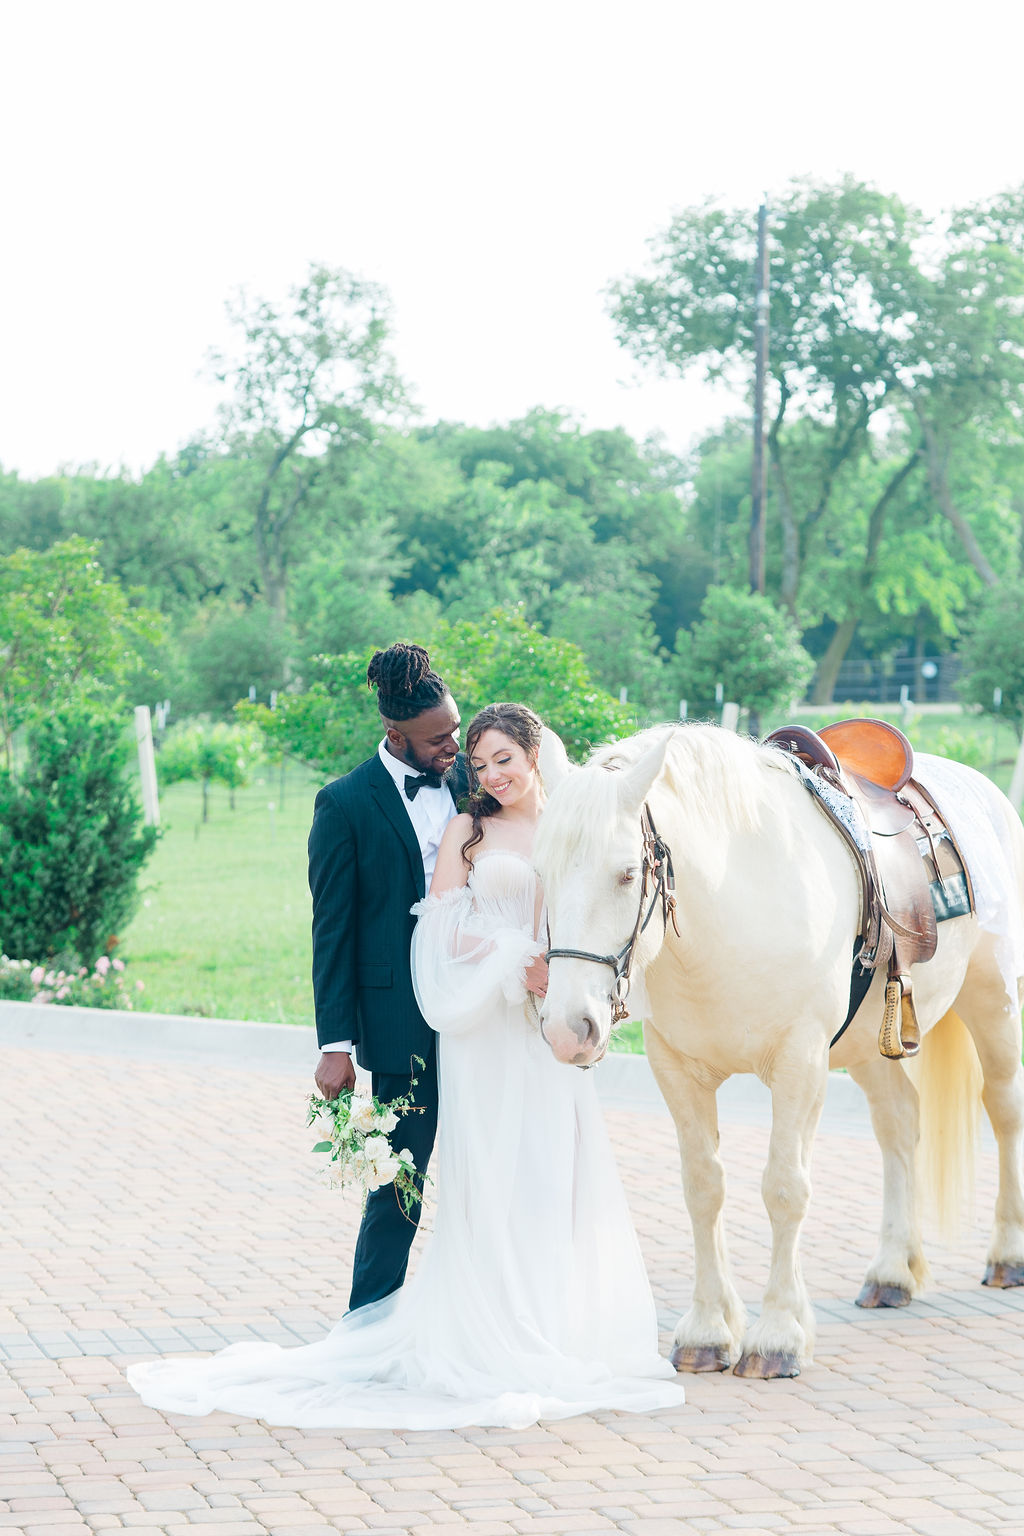
[[814, 673], [786, 614], [760, 593], [709, 587], [700, 621], [679, 634], [676, 680], [691, 714], [711, 714], [715, 688], [761, 713], [798, 699]]

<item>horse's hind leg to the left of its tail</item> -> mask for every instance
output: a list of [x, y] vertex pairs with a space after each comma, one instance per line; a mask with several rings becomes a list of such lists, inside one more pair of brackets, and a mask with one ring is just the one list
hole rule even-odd
[[918, 1095], [898, 1061], [851, 1063], [864, 1091], [881, 1149], [883, 1201], [878, 1250], [857, 1296], [858, 1307], [906, 1307], [927, 1283], [917, 1212]]

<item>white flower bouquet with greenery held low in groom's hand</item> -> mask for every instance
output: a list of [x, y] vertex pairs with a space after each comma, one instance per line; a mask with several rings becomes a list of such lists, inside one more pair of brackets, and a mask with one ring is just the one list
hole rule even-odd
[[[413, 1080], [415, 1081], [415, 1080]], [[329, 1181], [338, 1189], [356, 1184], [362, 1190], [362, 1203], [372, 1189], [395, 1184], [395, 1192], [408, 1215], [418, 1200], [422, 1200], [416, 1184], [416, 1166], [408, 1147], [396, 1152], [391, 1134], [399, 1115], [422, 1114], [411, 1097], [393, 1098], [382, 1104], [368, 1094], [342, 1089], [338, 1098], [325, 1100], [310, 1094], [309, 1120], [325, 1123], [327, 1140], [318, 1141], [313, 1152], [327, 1152], [330, 1161], [324, 1169]]]

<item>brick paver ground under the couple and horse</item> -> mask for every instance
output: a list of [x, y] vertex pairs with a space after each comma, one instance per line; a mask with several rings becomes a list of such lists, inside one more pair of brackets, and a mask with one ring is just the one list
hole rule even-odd
[[[1024, 1293], [978, 1286], [990, 1150], [929, 1296], [860, 1312], [880, 1158], [821, 1134], [803, 1244], [818, 1350], [795, 1381], [688, 1378], [665, 1413], [524, 1432], [304, 1432], [164, 1416], [123, 1376], [137, 1355], [306, 1341], [342, 1310], [358, 1212], [312, 1175], [302, 1081], [17, 1048], [0, 1081], [0, 1531], [1024, 1533]], [[692, 1279], [671, 1123], [608, 1118], [668, 1346]], [[751, 1306], [765, 1146], [763, 1126], [723, 1127]]]

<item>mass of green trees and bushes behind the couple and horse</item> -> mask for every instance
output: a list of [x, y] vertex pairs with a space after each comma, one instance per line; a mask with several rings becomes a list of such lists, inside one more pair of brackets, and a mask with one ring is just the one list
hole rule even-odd
[[[824, 720], [844, 657], [956, 648], [964, 699], [992, 710], [1003, 690], [993, 740], [1019, 733], [1024, 187], [929, 220], [852, 178], [801, 180], [769, 224], [763, 596], [748, 590], [746, 410], [682, 458], [542, 407], [487, 429], [424, 422], [387, 293], [342, 269], [235, 306], [218, 419], [144, 473], [0, 472], [0, 848], [18, 892], [3, 948], [43, 942], [32, 883], [48, 951], [95, 954], [123, 929], [152, 849], [120, 799], [109, 722], [130, 703], [170, 702], [163, 786], [209, 814], [212, 786], [241, 805], [253, 773], [284, 785], [296, 762], [333, 776], [365, 757], [365, 664], [399, 637], [430, 648], [465, 720], [522, 697], [574, 757], [682, 697], [711, 713], [718, 685], [766, 728], [812, 671]], [[609, 287], [622, 346], [666, 376], [746, 381], [752, 257], [749, 209], [680, 210], [648, 269]], [[992, 771], [984, 733], [944, 730]], [[161, 882], [190, 889], [186, 843]], [[246, 934], [276, 920], [273, 903], [239, 912]], [[266, 965], [266, 934], [253, 942]], [[232, 952], [247, 943], [232, 929]]]

